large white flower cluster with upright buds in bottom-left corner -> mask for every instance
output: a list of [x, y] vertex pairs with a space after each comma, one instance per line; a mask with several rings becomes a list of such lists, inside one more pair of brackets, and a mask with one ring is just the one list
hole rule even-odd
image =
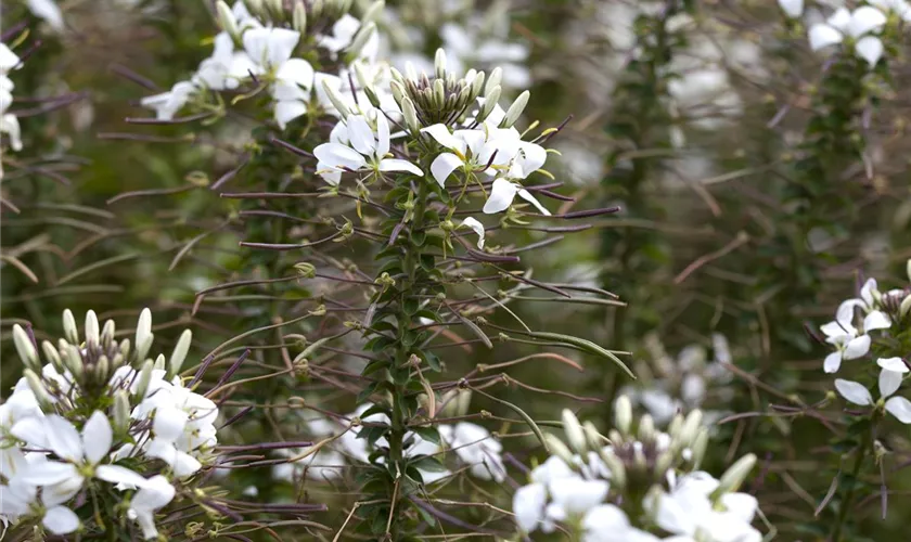
[[63, 324], [65, 338], [40, 346], [44, 364], [30, 333], [13, 328], [26, 369], [0, 405], [0, 518], [67, 534], [111, 505], [146, 540], [156, 538], [155, 513], [214, 460], [217, 443], [218, 408], [177, 376], [191, 334], [183, 332], [167, 360], [152, 360], [149, 309], [132, 344], [115, 341], [114, 322], [100, 328], [93, 311], [85, 339], [68, 310]]

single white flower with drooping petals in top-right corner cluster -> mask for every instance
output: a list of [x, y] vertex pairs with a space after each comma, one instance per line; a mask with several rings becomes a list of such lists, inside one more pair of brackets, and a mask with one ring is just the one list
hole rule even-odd
[[876, 8], [863, 5], [848, 12], [839, 8], [825, 23], [810, 27], [810, 49], [818, 51], [829, 46], [842, 43], [845, 37], [857, 39], [855, 50], [870, 66], [874, 66], [883, 55], [883, 42], [870, 34], [876, 33], [886, 24], [886, 15]]

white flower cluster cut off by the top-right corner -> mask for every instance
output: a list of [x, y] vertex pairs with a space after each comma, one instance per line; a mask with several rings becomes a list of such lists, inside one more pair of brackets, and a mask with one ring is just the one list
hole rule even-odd
[[[867, 3], [854, 11], [838, 8], [824, 22], [811, 25], [810, 49], [819, 51], [844, 43], [874, 67], [885, 52], [881, 34], [889, 16], [911, 22], [911, 3], [906, 0], [870, 0]], [[803, 0], [779, 0], [779, 5], [788, 17], [799, 17], [804, 12]]]

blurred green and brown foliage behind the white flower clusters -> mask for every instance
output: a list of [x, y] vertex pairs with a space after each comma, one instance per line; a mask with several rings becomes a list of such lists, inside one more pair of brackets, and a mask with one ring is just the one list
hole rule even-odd
[[[509, 63], [519, 83], [513, 94], [531, 90], [527, 120], [559, 126], [572, 115], [551, 140], [561, 154], [551, 167], [564, 183], [560, 192], [575, 198], [564, 208], [620, 208], [581, 234], [527, 253], [523, 264], [551, 281], [613, 292], [625, 307], [534, 300], [511, 307], [533, 327], [630, 352], [639, 380], [569, 352], [583, 371], [554, 360], [525, 363], [509, 371], [522, 385], [508, 382], [495, 388], [497, 396], [536, 420], [553, 420], [559, 406], [569, 405], [607, 427], [620, 390], [681, 397], [690, 386], [692, 406], [717, 411], [721, 422], [713, 466], [756, 453], [761, 481], [750, 489], [779, 540], [824, 540], [838, 496], [819, 516], [814, 509], [839, 472], [839, 449], [808, 406], [825, 397], [831, 379], [822, 373], [825, 349], [807, 330], [827, 321], [861, 278], [902, 276], [911, 256], [908, 51], [894, 51], [857, 90], [856, 65], [812, 54], [806, 29], [765, 0], [387, 3], [383, 31], [394, 64], [427, 62], [440, 46], [457, 51], [450, 56], [464, 66]], [[77, 314], [92, 308], [128, 330], [147, 306], [162, 350], [190, 326], [196, 360], [232, 336], [299, 314], [297, 301], [319, 295], [318, 284], [211, 295], [196, 312], [194, 302], [217, 284], [293, 275], [293, 264], [306, 259], [303, 251], [274, 257], [239, 246], [257, 238], [301, 242], [307, 224], [287, 230], [286, 222], [265, 220], [254, 230], [238, 217], [255, 205], [220, 192], [318, 186], [294, 155], [269, 140], [274, 133], [305, 147], [312, 134], [298, 125], [284, 134], [270, 131], [242, 107], [213, 122], [131, 120], [147, 116], [140, 98], [185, 77], [205, 56], [216, 31], [209, 2], [67, 0], [61, 7], [63, 34], [20, 2], [3, 0], [0, 11], [2, 31], [25, 20], [26, 43], [40, 41], [16, 74], [24, 96], [17, 106], [34, 113], [22, 118], [25, 150], [4, 156], [0, 184], [0, 195], [20, 210], [0, 208], [0, 246], [28, 270], [0, 261], [2, 385], [18, 373], [8, 340], [12, 324], [27, 321], [39, 337], [57, 336], [64, 308]], [[466, 48], [460, 39], [485, 47]], [[863, 96], [844, 103], [851, 92]], [[822, 141], [820, 133], [842, 140]], [[226, 175], [223, 188], [214, 190]], [[283, 210], [310, 219], [331, 209], [317, 199]], [[491, 233], [496, 243], [538, 238], [534, 230]], [[334, 249], [333, 257], [369, 264], [350, 248]], [[498, 318], [514, 325], [506, 314]], [[308, 336], [318, 328], [309, 321], [293, 327]], [[535, 353], [521, 344], [497, 350], [496, 359], [471, 346], [448, 351], [442, 361], [455, 378], [478, 364]], [[275, 350], [254, 357], [265, 366], [282, 363]], [[713, 362], [726, 364], [724, 378], [706, 376]], [[261, 371], [245, 364], [239, 377]], [[698, 378], [688, 378], [691, 373]], [[320, 408], [335, 412], [355, 406], [352, 393], [301, 375], [240, 390], [232, 400], [279, 396], [319, 398]], [[652, 410], [647, 398], [642, 404]], [[510, 417], [483, 397], [472, 410]], [[290, 415], [264, 410], [256, 423], [239, 427], [239, 438], [262, 439], [277, 423], [295, 426], [282, 418]], [[887, 447], [907, 444], [907, 426], [890, 429]], [[506, 447], [519, 460], [536, 452], [527, 438]], [[875, 496], [880, 473], [848, 480], [874, 491], [856, 509], [851, 540], [903, 540], [911, 479], [893, 470], [906, 460], [884, 464], [885, 520]], [[255, 472], [240, 476], [239, 488], [299, 491], [269, 488]], [[332, 498], [317, 491], [317, 501]]]

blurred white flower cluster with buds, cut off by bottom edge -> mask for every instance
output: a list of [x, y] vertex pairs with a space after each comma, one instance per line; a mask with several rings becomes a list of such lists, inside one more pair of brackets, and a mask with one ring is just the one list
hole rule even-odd
[[756, 462], [746, 455], [720, 479], [696, 470], [708, 443], [702, 413], [678, 415], [667, 433], [647, 414], [632, 430], [629, 400], [616, 402], [608, 437], [563, 413], [568, 446], [554, 435], [553, 455], [530, 473], [513, 498], [523, 532], [575, 532], [586, 541], [759, 541], [752, 527], [756, 499], [736, 492]]

